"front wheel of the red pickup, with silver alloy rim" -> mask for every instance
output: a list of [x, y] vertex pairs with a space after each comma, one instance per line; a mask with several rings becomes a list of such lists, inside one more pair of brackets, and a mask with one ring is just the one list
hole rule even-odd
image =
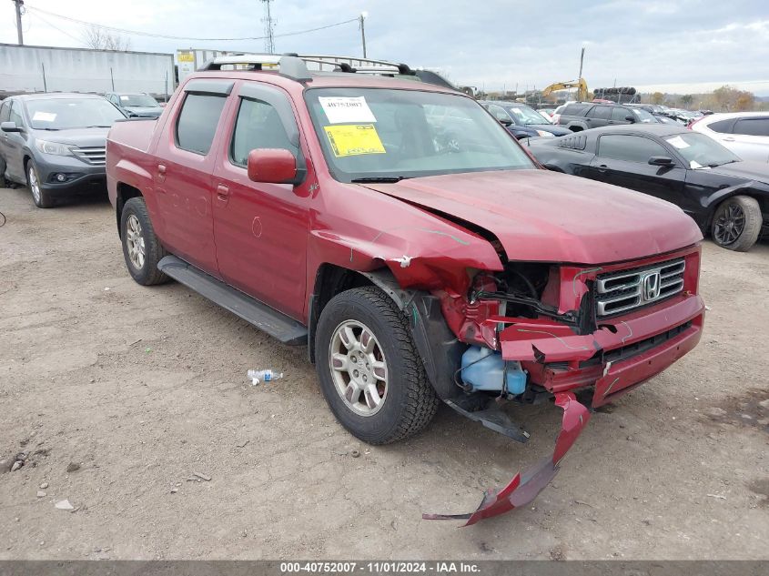
[[[343, 337], [349, 333], [344, 328], [352, 328], [352, 349], [346, 348]], [[361, 352], [363, 343], [369, 344], [369, 353]], [[390, 444], [416, 434], [435, 416], [439, 400], [411, 339], [408, 319], [379, 288], [353, 288], [331, 298], [320, 314], [315, 349], [323, 396], [341, 425], [356, 438], [369, 444]], [[332, 368], [329, 358], [341, 367], [339, 357], [346, 358], [349, 371]], [[353, 376], [356, 367], [360, 369], [357, 381]], [[366, 374], [368, 385], [361, 381]], [[343, 397], [345, 382], [352, 385], [350, 397], [357, 401]], [[356, 393], [359, 383], [364, 388]], [[372, 383], [379, 397], [375, 406], [366, 393]]]

